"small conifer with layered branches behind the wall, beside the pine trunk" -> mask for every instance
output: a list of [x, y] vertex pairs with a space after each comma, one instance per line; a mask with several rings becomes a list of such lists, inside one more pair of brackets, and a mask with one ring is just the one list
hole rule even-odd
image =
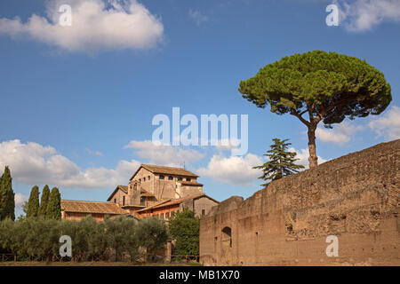
[[[260, 179], [272, 181], [288, 177], [299, 172], [300, 169], [304, 169], [304, 166], [294, 163], [299, 160], [295, 158], [296, 153], [287, 150], [288, 146], [292, 145], [291, 143], [286, 143], [288, 139], [280, 140], [274, 138], [272, 140], [274, 144], [270, 146], [271, 149], [267, 151], [267, 154], [264, 154], [264, 156], [268, 157], [268, 162], [253, 168], [262, 170], [263, 174], [259, 177]], [[262, 186], [267, 185], [268, 183]]]

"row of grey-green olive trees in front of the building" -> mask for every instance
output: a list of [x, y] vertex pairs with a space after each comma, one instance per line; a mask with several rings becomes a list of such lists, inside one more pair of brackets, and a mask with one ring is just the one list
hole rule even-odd
[[50, 261], [60, 256], [60, 236], [72, 240], [75, 261], [119, 260], [127, 253], [135, 261], [139, 243], [135, 238], [136, 222], [132, 217], [116, 217], [96, 222], [92, 217], [80, 221], [27, 217], [0, 222], [0, 250], [17, 260]]

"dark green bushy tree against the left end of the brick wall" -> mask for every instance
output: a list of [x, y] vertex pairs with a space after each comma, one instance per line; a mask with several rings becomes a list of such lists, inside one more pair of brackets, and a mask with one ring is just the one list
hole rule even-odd
[[200, 218], [195, 216], [195, 212], [188, 209], [175, 212], [169, 222], [169, 232], [176, 240], [174, 253], [180, 256], [198, 256]]

